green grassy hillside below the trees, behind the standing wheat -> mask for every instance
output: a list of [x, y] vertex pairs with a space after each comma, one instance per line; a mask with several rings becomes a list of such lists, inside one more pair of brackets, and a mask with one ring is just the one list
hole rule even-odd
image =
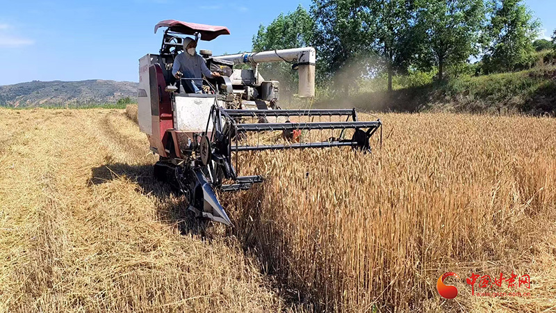
[[363, 83], [360, 92], [320, 99], [316, 106], [384, 112], [556, 115], [554, 65], [478, 77], [462, 75], [443, 83], [433, 82], [432, 77], [402, 79], [406, 81], [390, 93], [377, 88], [377, 85], [384, 86], [384, 82], [377, 79]]

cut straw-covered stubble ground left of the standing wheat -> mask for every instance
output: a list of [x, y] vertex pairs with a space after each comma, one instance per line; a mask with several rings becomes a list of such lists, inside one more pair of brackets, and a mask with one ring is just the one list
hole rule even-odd
[[183, 236], [123, 110], [0, 110], [0, 312], [268, 312], [237, 241]]

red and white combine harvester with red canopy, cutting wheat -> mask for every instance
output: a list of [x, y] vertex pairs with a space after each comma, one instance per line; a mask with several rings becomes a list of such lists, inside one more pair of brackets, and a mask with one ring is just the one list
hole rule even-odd
[[[183, 38], [193, 35], [208, 41], [229, 35], [229, 30], [170, 19], [156, 24], [154, 32], [161, 27], [166, 29], [159, 54], [139, 60], [139, 127], [147, 134], [152, 152], [160, 156], [154, 175], [177, 186], [199, 218], [231, 225], [216, 191], [247, 190], [263, 182], [259, 175], [238, 175], [242, 152], [327, 147], [368, 152], [370, 136], [382, 129], [380, 120], [359, 121], [355, 109], [279, 107], [279, 82], [265, 81], [257, 65], [292, 63], [299, 73], [298, 96], [313, 97], [316, 53], [311, 47], [225, 56], [201, 50], [208, 69], [221, 76], [202, 79], [207, 93], [186, 93], [183, 82], [192, 78], [172, 75]], [[252, 69], [234, 69], [242, 63]], [[311, 136], [311, 131], [317, 134]], [[334, 136], [335, 132], [339, 135]], [[259, 140], [260, 136], [265, 140]]]

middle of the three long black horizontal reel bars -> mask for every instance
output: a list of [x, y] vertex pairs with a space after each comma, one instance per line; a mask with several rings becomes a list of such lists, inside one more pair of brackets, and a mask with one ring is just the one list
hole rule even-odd
[[238, 131], [293, 131], [296, 129], [360, 129], [378, 128], [379, 121], [369, 122], [289, 122], [237, 124]]

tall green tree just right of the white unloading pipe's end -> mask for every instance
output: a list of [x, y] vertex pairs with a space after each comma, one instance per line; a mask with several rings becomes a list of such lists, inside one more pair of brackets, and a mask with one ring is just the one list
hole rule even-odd
[[361, 0], [314, 0], [311, 15], [316, 22], [318, 81], [333, 82], [334, 89], [350, 86], [368, 73], [372, 54], [369, 11]]

